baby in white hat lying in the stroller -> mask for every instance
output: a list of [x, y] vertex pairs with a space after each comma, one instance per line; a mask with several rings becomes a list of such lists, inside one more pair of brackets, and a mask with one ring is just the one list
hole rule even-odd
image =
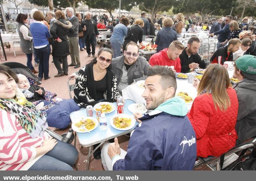
[[23, 74], [17, 74], [17, 77], [19, 79], [17, 86], [26, 96], [27, 100], [33, 102], [44, 99], [44, 87], [39, 87], [35, 84], [30, 86], [28, 78]]

